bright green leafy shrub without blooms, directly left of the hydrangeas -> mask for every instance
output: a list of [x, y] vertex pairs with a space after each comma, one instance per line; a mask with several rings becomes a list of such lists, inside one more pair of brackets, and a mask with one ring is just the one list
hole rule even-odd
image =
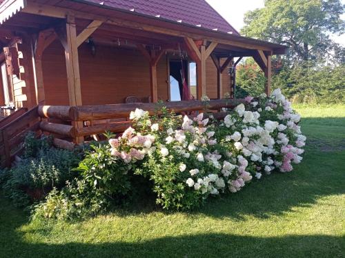
[[61, 192], [52, 190], [46, 201], [35, 206], [34, 218], [83, 218], [105, 210], [110, 203], [121, 204], [131, 191], [130, 166], [111, 155], [108, 144], [91, 145], [75, 168], [79, 179]]

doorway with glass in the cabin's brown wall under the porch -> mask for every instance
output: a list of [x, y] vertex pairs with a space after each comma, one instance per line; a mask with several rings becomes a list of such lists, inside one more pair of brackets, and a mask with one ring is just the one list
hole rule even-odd
[[[193, 65], [194, 64], [194, 65]], [[170, 101], [181, 101], [184, 95], [183, 77], [192, 98], [196, 97], [196, 66], [187, 60], [170, 60]], [[182, 72], [183, 70], [183, 72]]]

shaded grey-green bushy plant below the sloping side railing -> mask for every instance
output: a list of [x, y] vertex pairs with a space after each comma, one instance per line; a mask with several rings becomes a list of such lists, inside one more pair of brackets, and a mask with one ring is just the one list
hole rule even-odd
[[26, 137], [24, 146], [23, 159], [0, 176], [4, 194], [15, 206], [28, 206], [77, 177], [72, 168], [78, 166], [80, 153], [52, 148], [49, 137], [36, 139], [33, 134]]

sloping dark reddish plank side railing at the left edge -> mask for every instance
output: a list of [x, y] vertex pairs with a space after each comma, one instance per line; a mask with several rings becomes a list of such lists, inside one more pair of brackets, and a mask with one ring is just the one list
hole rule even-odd
[[[0, 167], [9, 167], [16, 155], [23, 150], [23, 139], [30, 131], [39, 130], [38, 107], [28, 112], [14, 112], [0, 128]], [[13, 116], [13, 117], [12, 117]]]

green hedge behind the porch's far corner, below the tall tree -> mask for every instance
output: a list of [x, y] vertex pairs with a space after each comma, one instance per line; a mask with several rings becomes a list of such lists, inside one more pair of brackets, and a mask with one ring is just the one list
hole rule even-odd
[[[345, 103], [345, 64], [313, 66], [311, 63], [284, 66], [274, 72], [272, 88], [280, 88], [294, 103]], [[264, 92], [266, 78], [253, 59], [237, 68], [236, 97], [258, 96]]]

